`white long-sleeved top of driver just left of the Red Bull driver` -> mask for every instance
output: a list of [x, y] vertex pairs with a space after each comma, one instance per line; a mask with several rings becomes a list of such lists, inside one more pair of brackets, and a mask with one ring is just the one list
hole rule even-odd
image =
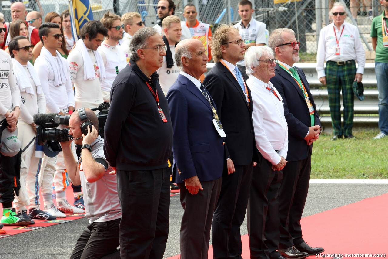
[[[58, 61], [57, 56], [53, 57], [53, 59], [56, 62]], [[49, 112], [59, 113], [60, 111], [67, 110], [69, 106], [74, 107], [74, 91], [70, 77], [66, 80], [65, 85], [54, 86], [53, 67], [42, 55], [35, 60], [34, 68], [42, 84], [42, 91], [45, 94], [46, 106]]]

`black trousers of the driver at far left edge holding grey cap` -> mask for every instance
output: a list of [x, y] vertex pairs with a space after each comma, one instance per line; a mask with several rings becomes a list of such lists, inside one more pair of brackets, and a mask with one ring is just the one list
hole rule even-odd
[[[0, 136], [3, 130], [8, 130], [7, 126], [8, 123], [4, 119], [0, 126]], [[21, 154], [22, 151], [15, 156], [4, 156], [0, 153], [0, 203], [3, 203], [3, 208], [12, 207], [15, 194], [19, 196]]]

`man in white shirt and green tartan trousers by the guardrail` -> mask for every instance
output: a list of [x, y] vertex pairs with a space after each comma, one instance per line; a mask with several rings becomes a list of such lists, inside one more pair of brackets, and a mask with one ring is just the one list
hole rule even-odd
[[[365, 66], [365, 51], [357, 26], [345, 22], [346, 6], [335, 2], [330, 13], [333, 23], [320, 31], [317, 50], [319, 81], [327, 86], [334, 137], [337, 140], [355, 138], [352, 133], [354, 117], [354, 81], [361, 82]], [[358, 68], [355, 61], [357, 60]], [[326, 68], [323, 63], [326, 61]], [[341, 94], [343, 98], [343, 126], [341, 125]]]

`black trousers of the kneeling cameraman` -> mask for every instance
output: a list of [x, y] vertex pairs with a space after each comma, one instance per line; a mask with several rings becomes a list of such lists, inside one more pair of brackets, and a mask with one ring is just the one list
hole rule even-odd
[[120, 219], [88, 224], [71, 253], [70, 259], [120, 259], [119, 246]]

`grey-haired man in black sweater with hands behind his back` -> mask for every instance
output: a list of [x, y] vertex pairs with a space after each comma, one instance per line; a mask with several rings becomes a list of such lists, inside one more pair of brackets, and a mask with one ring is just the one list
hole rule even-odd
[[156, 73], [165, 55], [158, 32], [141, 28], [130, 43], [130, 64], [111, 89], [104, 152], [117, 172], [121, 258], [162, 259], [166, 248], [173, 131]]

